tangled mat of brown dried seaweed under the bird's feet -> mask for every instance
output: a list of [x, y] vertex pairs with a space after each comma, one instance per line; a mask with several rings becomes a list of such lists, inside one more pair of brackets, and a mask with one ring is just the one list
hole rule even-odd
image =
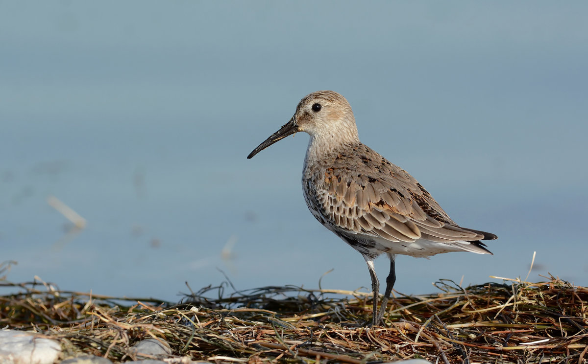
[[0, 280], [18, 291], [0, 296], [0, 327], [56, 339], [65, 358], [85, 353], [113, 362], [137, 359], [131, 346], [148, 338], [171, 346], [170, 362], [588, 361], [586, 287], [554, 277], [436, 286], [436, 294], [396, 294], [387, 327], [368, 328], [358, 325], [372, 314], [369, 292], [287, 286], [227, 294], [221, 285], [174, 304]]

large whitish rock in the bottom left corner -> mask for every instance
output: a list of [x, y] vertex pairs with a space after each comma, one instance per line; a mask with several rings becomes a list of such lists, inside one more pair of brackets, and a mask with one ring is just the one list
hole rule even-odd
[[34, 332], [0, 330], [2, 364], [53, 364], [60, 353], [55, 340], [37, 338]]

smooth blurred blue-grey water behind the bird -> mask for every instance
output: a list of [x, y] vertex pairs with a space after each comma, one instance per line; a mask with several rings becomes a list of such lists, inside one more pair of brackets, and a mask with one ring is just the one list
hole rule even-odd
[[[323, 288], [369, 291], [361, 255], [306, 208], [308, 136], [246, 160], [303, 96], [331, 89], [364, 143], [457, 223], [499, 236], [493, 256], [398, 257], [397, 291], [524, 279], [533, 251], [530, 281], [587, 285], [587, 12], [0, 2], [0, 262], [18, 262], [7, 279], [174, 301], [185, 282], [225, 281], [220, 270], [247, 289], [317, 288], [333, 269]], [[381, 279], [388, 267], [377, 259]]]

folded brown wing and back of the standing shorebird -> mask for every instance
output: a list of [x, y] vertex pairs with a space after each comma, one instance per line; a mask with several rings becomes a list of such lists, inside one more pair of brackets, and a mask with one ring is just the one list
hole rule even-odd
[[363, 144], [357, 152], [339, 154], [328, 168], [313, 166], [313, 174], [305, 177], [310, 198], [316, 201], [309, 204], [318, 204], [331, 224], [393, 242], [450, 244], [496, 237], [459, 227], [406, 171]]

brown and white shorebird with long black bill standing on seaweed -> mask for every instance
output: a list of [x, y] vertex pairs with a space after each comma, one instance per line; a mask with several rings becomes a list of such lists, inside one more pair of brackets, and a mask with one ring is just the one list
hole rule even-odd
[[[359, 141], [349, 102], [334, 91], [305, 96], [292, 119], [247, 159], [298, 132], [310, 135], [302, 174], [306, 204], [316, 220], [359, 251], [368, 264], [372, 325], [383, 324], [396, 281], [397, 254], [492, 254], [481, 240], [493, 240], [496, 235], [457, 225], [414, 177]], [[377, 311], [380, 282], [373, 259], [380, 254], [390, 258], [390, 273]]]

